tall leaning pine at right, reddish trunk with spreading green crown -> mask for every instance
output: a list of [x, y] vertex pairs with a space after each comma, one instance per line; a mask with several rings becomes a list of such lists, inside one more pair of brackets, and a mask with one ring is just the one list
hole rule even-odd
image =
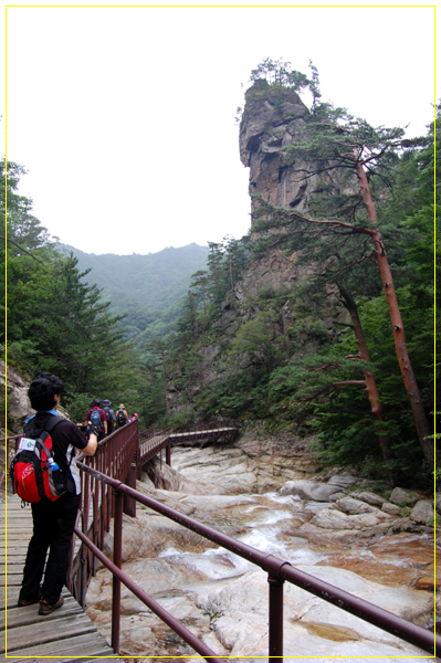
[[297, 172], [300, 180], [312, 180], [315, 185], [316, 196], [308, 201], [312, 213], [279, 208], [261, 197], [260, 209], [254, 213], [254, 218], [260, 217], [260, 220], [254, 229], [279, 233], [260, 240], [266, 245], [287, 244], [294, 240], [295, 248], [302, 249], [313, 243], [317, 254], [322, 255], [333, 255], [329, 241], [333, 242], [340, 254], [338, 264], [334, 265], [334, 278], [361, 263], [376, 262], [418, 439], [432, 466], [431, 431], [407, 350], [375, 204], [375, 198], [381, 200], [390, 183], [398, 151], [417, 144], [406, 140], [403, 134], [401, 128], [374, 128], [367, 122], [351, 117], [345, 109], [335, 109], [330, 104], [316, 105], [306, 123], [303, 140], [284, 150], [285, 166], [295, 169], [301, 161], [302, 168]]

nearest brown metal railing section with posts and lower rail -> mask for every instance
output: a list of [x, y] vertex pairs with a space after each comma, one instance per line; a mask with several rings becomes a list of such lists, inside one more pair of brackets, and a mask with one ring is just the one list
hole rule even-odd
[[[112, 646], [115, 652], [119, 649], [119, 613], [120, 613], [120, 583], [123, 582], [130, 591], [135, 593], [150, 610], [153, 610], [162, 621], [165, 621], [176, 633], [178, 633], [188, 644], [190, 644], [207, 661], [220, 663], [222, 659], [200, 642], [185, 627], [182, 627], [171, 614], [161, 608], [154, 599], [146, 594], [126, 573], [120, 570], [122, 566], [122, 529], [123, 529], [123, 496], [133, 498], [136, 502], [154, 509], [155, 512], [179, 523], [183, 527], [196, 532], [202, 537], [218, 544], [219, 546], [234, 552], [248, 561], [259, 566], [267, 573], [269, 580], [269, 655], [283, 656], [283, 583], [284, 581], [296, 585], [306, 591], [324, 599], [325, 601], [346, 610], [356, 617], [379, 627], [388, 633], [392, 633], [407, 642], [410, 642], [430, 654], [441, 654], [441, 643], [435, 648], [434, 635], [430, 631], [417, 627], [406, 620], [369, 603], [347, 591], [338, 589], [314, 576], [295, 569], [290, 561], [280, 559], [273, 555], [261, 552], [246, 544], [238, 541], [207, 525], [202, 525], [192, 518], [180, 514], [179, 512], [156, 502], [155, 499], [138, 493], [133, 487], [124, 485], [122, 482], [112, 478], [101, 471], [86, 464], [78, 463], [81, 470], [91, 477], [91, 481], [102, 482], [107, 486], [108, 493], [112, 492], [115, 499], [115, 522], [114, 522], [114, 561], [111, 562], [98, 547], [86, 536], [85, 528], [75, 529], [84, 546], [112, 571], [113, 580], [113, 607], [112, 607]], [[290, 652], [290, 655], [295, 655]]]

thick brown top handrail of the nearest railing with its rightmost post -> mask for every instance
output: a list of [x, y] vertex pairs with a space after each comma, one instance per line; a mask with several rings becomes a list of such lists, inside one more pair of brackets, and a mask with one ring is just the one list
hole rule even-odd
[[[397, 635], [398, 638], [401, 638], [402, 640], [406, 640], [407, 642], [410, 642], [411, 644], [414, 644], [423, 649], [424, 651], [430, 652], [431, 654], [433, 654], [434, 652], [437, 652], [437, 654], [441, 654], [441, 643], [435, 643], [434, 635], [430, 631], [427, 631], [421, 627], [412, 624], [411, 622], [408, 622], [382, 608], [374, 606], [372, 603], [369, 603], [364, 599], [359, 599], [358, 597], [355, 597], [345, 590], [338, 589], [333, 585], [329, 585], [328, 582], [319, 580], [314, 576], [309, 576], [304, 571], [295, 569], [287, 560], [280, 559], [274, 555], [266, 555], [264, 552], [261, 552], [260, 550], [256, 550], [255, 548], [252, 548], [246, 544], [238, 541], [225, 534], [222, 534], [220, 532], [217, 532], [216, 529], [212, 529], [211, 527], [208, 527], [207, 525], [198, 523], [189, 516], [180, 514], [179, 512], [164, 504], [160, 504], [159, 502], [156, 502], [151, 497], [138, 493], [136, 490], [126, 486], [122, 482], [112, 478], [94, 470], [93, 467], [83, 465], [82, 463], [78, 463], [78, 466], [81, 466], [81, 470], [93, 476], [95, 480], [98, 480], [99, 482], [112, 486], [115, 495], [120, 494], [136, 499], [136, 502], [148, 506], [157, 513], [175, 520], [176, 523], [179, 523], [180, 525], [188, 529], [191, 529], [192, 532], [196, 532], [202, 537], [218, 544], [219, 546], [225, 548], [227, 550], [230, 550], [231, 552], [234, 552], [235, 555], [239, 555], [243, 559], [246, 559], [251, 564], [256, 565], [261, 567], [264, 571], [266, 571], [269, 575], [270, 587], [270, 656], [283, 656], [282, 615], [283, 582], [285, 580], [287, 582], [291, 582], [292, 585], [305, 589], [306, 591], [324, 599], [329, 603], [333, 603], [334, 606], [337, 606], [338, 608], [342, 608], [347, 612], [350, 612], [351, 614], [355, 614], [364, 621], [379, 627], [381, 630], [387, 631], [388, 633]], [[122, 526], [119, 527], [119, 529], [122, 529]], [[78, 530], [76, 533], [78, 534]], [[115, 527], [115, 537], [116, 535], [117, 532]], [[92, 550], [92, 545], [90, 544], [87, 537], [81, 536], [81, 539]], [[115, 572], [115, 569], [113, 572]], [[119, 575], [119, 571], [117, 575]], [[119, 577], [119, 580], [125, 582], [122, 576]], [[115, 606], [114, 609], [117, 609], [119, 611], [119, 606]], [[174, 627], [171, 625], [171, 628]], [[183, 640], [186, 640], [186, 638], [182, 634], [181, 636], [183, 638]], [[119, 631], [117, 638], [115, 636], [115, 644], [117, 644], [118, 641]], [[188, 642], [188, 640], [186, 641]], [[212, 655], [212, 652], [210, 652], [207, 655], [202, 655], [207, 660], [209, 660]]]

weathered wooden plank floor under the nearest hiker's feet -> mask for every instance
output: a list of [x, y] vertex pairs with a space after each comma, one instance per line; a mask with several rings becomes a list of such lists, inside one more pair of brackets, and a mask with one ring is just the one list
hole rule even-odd
[[[48, 617], [38, 614], [38, 604], [18, 608], [17, 600], [22, 578], [28, 541], [32, 535], [31, 507], [21, 508], [17, 496], [8, 496], [8, 546], [6, 546], [6, 504], [2, 497], [0, 541], [1, 541], [1, 579], [0, 579], [0, 654], [7, 655], [11, 662], [38, 661], [51, 656], [51, 661], [80, 662], [87, 656], [104, 656], [104, 662], [114, 655], [113, 649], [101, 635], [81, 606], [64, 588], [64, 604]], [[7, 580], [6, 591], [6, 565]], [[29, 657], [28, 657], [29, 656]], [[52, 657], [53, 656], [53, 657]], [[1, 657], [1, 656], [0, 656]]]

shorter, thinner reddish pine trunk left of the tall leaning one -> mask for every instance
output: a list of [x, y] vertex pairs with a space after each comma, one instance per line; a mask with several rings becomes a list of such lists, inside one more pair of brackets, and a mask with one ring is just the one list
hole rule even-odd
[[[358, 346], [358, 356], [360, 359], [363, 359], [363, 361], [370, 361], [365, 334], [363, 332], [360, 318], [358, 317], [357, 304], [355, 303], [350, 291], [345, 285], [340, 283], [338, 283], [337, 285], [342, 295], [344, 306], [350, 315], [350, 322], [353, 323], [355, 339]], [[375, 431], [380, 442], [382, 457], [385, 459], [385, 461], [388, 461], [392, 457], [392, 451], [390, 449], [389, 438], [384, 432], [382, 408], [374, 373], [368, 370], [365, 370], [365, 380], [366, 391], [370, 401], [370, 411], [374, 418]]]

